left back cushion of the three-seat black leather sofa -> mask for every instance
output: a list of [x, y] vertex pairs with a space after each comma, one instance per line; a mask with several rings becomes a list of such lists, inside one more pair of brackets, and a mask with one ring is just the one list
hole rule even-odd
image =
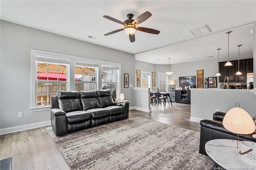
[[58, 91], [59, 108], [64, 112], [82, 111], [80, 95], [78, 91]]

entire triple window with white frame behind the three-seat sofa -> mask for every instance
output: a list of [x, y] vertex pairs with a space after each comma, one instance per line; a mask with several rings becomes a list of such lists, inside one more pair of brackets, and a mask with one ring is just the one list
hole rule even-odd
[[[120, 64], [31, 49], [31, 111], [50, 108], [57, 91], [110, 89], [120, 94]], [[102, 64], [104, 63], [104, 64]], [[99, 72], [99, 68], [102, 72]], [[102, 78], [102, 81], [99, 79]], [[100, 82], [100, 84], [99, 84]]]

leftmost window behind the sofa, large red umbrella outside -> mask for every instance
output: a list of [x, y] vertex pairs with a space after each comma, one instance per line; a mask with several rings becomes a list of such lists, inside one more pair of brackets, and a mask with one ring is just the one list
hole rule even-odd
[[34, 107], [50, 105], [50, 96], [69, 88], [69, 60], [36, 55]]

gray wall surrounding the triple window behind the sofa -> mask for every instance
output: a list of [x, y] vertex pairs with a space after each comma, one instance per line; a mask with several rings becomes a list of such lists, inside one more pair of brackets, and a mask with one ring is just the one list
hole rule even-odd
[[[121, 93], [133, 106], [133, 88], [124, 88], [124, 73], [135, 87], [134, 55], [1, 20], [1, 129], [50, 121], [50, 111], [30, 111], [30, 48], [120, 63]], [[24, 112], [24, 117], [18, 118], [18, 112]]]

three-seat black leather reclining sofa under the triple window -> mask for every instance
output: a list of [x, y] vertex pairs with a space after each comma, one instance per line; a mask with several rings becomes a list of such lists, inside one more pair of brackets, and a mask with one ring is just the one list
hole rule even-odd
[[110, 90], [58, 91], [51, 96], [51, 125], [56, 136], [129, 117], [129, 103], [118, 103]]

